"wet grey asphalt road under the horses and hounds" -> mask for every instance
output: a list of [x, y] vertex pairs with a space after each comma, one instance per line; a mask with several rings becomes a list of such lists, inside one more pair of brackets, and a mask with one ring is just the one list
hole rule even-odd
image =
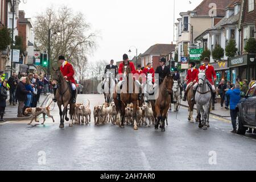
[[[90, 109], [102, 104], [102, 95], [79, 95]], [[232, 134], [228, 119], [210, 115], [210, 128], [187, 121], [188, 109], [168, 112], [166, 132], [154, 127], [121, 129], [110, 123], [59, 129], [59, 109], [52, 104], [52, 123], [0, 123], [0, 170], [67, 171], [253, 171], [256, 135]], [[177, 114], [177, 115], [176, 115]], [[177, 117], [176, 117], [177, 116]], [[196, 113], [194, 113], [194, 118]], [[42, 122], [42, 118], [39, 118]], [[15, 134], [15, 137], [14, 137]]]

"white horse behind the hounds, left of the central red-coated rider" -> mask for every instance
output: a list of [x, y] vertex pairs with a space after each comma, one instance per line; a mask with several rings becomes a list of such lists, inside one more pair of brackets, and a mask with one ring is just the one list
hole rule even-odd
[[105, 102], [110, 103], [113, 101], [113, 93], [115, 90], [115, 78], [110, 70], [106, 72], [102, 84], [104, 85]]

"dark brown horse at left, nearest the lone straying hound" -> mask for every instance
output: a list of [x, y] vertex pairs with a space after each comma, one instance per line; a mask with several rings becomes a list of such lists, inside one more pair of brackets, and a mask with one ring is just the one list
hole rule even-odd
[[[63, 74], [60, 72], [60, 69], [53, 69], [53, 71], [53, 84], [57, 84], [58, 86], [56, 91], [56, 99], [60, 111], [60, 128], [64, 128], [64, 118], [66, 121], [69, 121], [69, 118], [67, 117], [68, 105], [70, 105], [69, 115], [71, 117], [69, 126], [72, 127], [72, 116], [73, 113], [75, 113], [75, 104], [71, 103], [72, 90], [70, 83], [65, 80]], [[61, 106], [64, 106], [63, 110], [61, 109]]]

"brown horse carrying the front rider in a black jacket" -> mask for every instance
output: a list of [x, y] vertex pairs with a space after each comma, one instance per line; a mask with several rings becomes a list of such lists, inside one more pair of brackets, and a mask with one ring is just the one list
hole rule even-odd
[[[167, 75], [164, 78], [164, 81], [159, 86], [159, 89], [156, 90], [158, 92], [158, 98], [156, 100], [151, 100], [152, 110], [154, 111], [154, 117], [156, 120], [155, 129], [158, 130], [160, 125], [162, 131], [166, 131], [165, 129], [165, 121], [169, 106], [171, 104], [171, 94], [172, 94], [172, 86], [174, 85], [174, 79], [171, 75]], [[161, 123], [160, 123], [161, 122]]]

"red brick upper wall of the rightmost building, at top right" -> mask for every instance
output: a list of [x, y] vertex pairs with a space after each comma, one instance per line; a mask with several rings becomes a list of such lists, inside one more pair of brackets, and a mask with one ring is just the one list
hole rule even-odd
[[[254, 11], [248, 12], [248, 0], [245, 0], [243, 7], [243, 19], [241, 24], [254, 23], [256, 26], [256, 2], [254, 1]], [[241, 53], [243, 52], [243, 26], [241, 27]]]

